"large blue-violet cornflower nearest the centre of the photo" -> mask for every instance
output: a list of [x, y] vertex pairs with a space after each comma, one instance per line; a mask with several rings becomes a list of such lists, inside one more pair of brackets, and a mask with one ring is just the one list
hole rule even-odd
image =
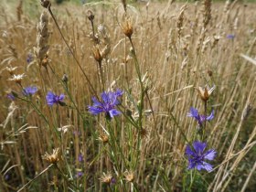
[[93, 105], [89, 106], [89, 112], [92, 114], [99, 114], [101, 112], [105, 112], [107, 117], [113, 118], [115, 115], [121, 114], [121, 112], [115, 109], [115, 106], [119, 104], [117, 100], [118, 97], [123, 95], [123, 91], [109, 91], [102, 92], [101, 99], [102, 101], [98, 101], [95, 97], [92, 97]]

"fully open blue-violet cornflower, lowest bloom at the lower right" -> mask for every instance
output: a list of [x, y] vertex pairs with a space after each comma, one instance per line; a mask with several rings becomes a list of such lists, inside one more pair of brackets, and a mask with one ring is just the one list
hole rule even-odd
[[213, 160], [217, 152], [214, 149], [210, 149], [205, 152], [207, 147], [206, 143], [202, 142], [194, 142], [193, 143], [193, 150], [191, 149], [190, 145], [187, 144], [186, 147], [186, 155], [188, 156], [188, 166], [187, 169], [197, 168], [198, 171], [201, 169], [205, 169], [208, 172], [212, 170], [212, 165], [205, 162], [205, 160]]

